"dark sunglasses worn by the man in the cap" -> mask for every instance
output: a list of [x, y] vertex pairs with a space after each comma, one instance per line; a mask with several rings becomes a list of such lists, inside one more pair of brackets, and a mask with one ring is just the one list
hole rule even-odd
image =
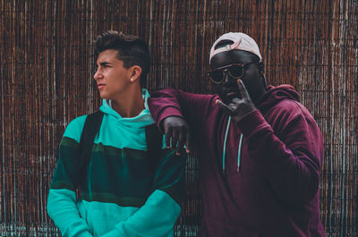
[[208, 72], [208, 76], [209, 79], [215, 84], [220, 84], [224, 81], [224, 76], [226, 72], [228, 72], [232, 78], [239, 79], [243, 77], [244, 68], [252, 63], [259, 63], [259, 62], [234, 63], [234, 64], [226, 65], [223, 67], [219, 67], [211, 72]]

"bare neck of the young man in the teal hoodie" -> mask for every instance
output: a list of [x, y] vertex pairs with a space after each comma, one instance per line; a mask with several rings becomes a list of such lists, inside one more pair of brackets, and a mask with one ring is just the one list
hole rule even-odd
[[141, 88], [128, 89], [127, 93], [112, 100], [112, 107], [122, 117], [135, 117], [141, 114], [144, 109], [144, 100], [141, 95]]

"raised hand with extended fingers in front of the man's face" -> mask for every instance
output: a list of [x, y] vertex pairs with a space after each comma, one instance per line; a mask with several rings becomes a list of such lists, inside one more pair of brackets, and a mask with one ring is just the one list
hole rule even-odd
[[229, 105], [224, 104], [217, 99], [216, 103], [224, 112], [230, 115], [235, 123], [238, 123], [246, 114], [251, 113], [252, 110], [256, 109], [256, 106], [251, 101], [249, 92], [243, 85], [243, 81], [238, 79], [237, 85], [239, 86], [239, 93], [242, 98], [234, 97]]

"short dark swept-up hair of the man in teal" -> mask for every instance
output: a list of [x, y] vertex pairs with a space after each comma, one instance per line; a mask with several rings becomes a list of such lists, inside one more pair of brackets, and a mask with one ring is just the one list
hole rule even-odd
[[107, 49], [115, 49], [119, 53], [117, 58], [124, 62], [125, 68], [130, 68], [133, 65], [140, 66], [141, 87], [146, 86], [147, 74], [150, 70], [150, 53], [149, 47], [143, 39], [137, 36], [124, 35], [124, 33], [115, 30], [107, 30], [98, 35], [94, 47], [96, 61], [101, 52]]

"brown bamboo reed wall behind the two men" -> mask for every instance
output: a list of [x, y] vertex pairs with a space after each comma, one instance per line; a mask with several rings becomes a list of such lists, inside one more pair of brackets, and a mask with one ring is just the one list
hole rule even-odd
[[[328, 236], [357, 236], [358, 0], [0, 0], [0, 235], [60, 236], [46, 214], [65, 126], [100, 105], [91, 42], [121, 30], [149, 42], [149, 90], [213, 92], [209, 48], [227, 31], [260, 46], [270, 84], [302, 95], [324, 136], [320, 209]], [[195, 156], [175, 227], [195, 236]]]

